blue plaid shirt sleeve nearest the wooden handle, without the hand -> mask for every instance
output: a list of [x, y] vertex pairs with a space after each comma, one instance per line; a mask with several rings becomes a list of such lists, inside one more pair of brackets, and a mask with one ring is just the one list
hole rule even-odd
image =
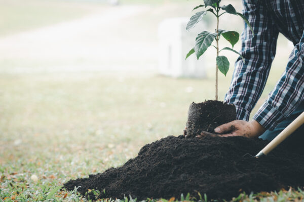
[[288, 59], [286, 70], [253, 119], [273, 130], [304, 100], [304, 32]]

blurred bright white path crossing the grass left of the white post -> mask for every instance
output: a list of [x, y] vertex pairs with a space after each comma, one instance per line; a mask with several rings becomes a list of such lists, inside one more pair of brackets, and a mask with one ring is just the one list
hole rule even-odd
[[130, 61], [155, 61], [157, 44], [137, 40], [140, 27], [128, 27], [129, 19], [149, 10], [108, 7], [78, 20], [0, 38], [0, 71], [128, 69]]

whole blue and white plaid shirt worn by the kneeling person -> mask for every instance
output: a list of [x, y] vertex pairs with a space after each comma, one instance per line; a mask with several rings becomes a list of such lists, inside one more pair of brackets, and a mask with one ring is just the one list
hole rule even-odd
[[243, 0], [245, 24], [241, 54], [235, 64], [232, 83], [225, 102], [234, 104], [237, 118], [249, 120], [259, 99], [276, 54], [278, 34], [295, 45], [286, 70], [253, 119], [273, 130], [291, 115], [304, 99], [304, 0]]

